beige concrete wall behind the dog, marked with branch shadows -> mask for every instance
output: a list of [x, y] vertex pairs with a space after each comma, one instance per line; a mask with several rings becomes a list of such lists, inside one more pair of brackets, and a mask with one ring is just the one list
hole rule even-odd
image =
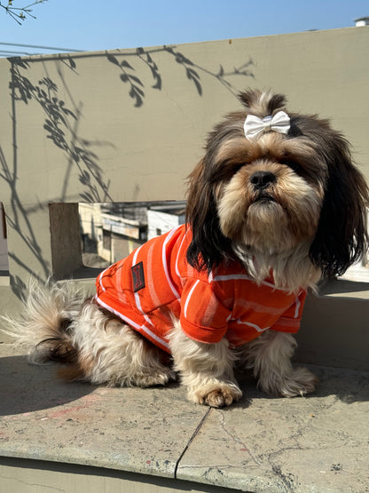
[[183, 199], [208, 131], [247, 86], [331, 118], [369, 178], [368, 46], [363, 27], [0, 60], [0, 310], [27, 277], [81, 265], [77, 203]]

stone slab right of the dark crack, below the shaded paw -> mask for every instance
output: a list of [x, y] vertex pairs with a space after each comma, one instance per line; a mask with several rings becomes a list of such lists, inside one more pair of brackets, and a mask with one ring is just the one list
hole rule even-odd
[[245, 397], [211, 410], [177, 478], [243, 491], [364, 492], [369, 485], [369, 374], [310, 367], [316, 394]]

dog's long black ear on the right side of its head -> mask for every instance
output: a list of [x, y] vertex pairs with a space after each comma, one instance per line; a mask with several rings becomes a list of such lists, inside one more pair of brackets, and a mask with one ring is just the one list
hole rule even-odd
[[324, 276], [334, 277], [365, 254], [369, 193], [365, 178], [352, 163], [348, 142], [330, 129], [325, 139], [328, 177], [310, 259]]

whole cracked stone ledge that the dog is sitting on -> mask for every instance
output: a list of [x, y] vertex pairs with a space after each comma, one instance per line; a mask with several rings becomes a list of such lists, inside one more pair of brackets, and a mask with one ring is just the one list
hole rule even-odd
[[[8, 344], [0, 345], [0, 356], [4, 488], [11, 486], [4, 467], [19, 457], [26, 464], [41, 461], [44, 469], [84, 465], [90, 474], [101, 476], [95, 468], [104, 468], [105, 476], [127, 484], [134, 478], [133, 489], [112, 491], [347, 493], [367, 487], [364, 371], [310, 366], [318, 390], [294, 399], [267, 397], [244, 377], [243, 399], [217, 410], [188, 402], [177, 385], [143, 390], [67, 384], [56, 378], [56, 365], [30, 366]], [[135, 489], [139, 478], [145, 488]]]

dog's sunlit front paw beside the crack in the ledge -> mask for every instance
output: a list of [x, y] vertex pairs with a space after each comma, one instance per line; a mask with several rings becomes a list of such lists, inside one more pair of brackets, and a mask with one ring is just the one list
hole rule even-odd
[[212, 408], [230, 406], [232, 402], [239, 401], [242, 392], [235, 384], [218, 384], [195, 389], [189, 392], [190, 401], [204, 404]]

